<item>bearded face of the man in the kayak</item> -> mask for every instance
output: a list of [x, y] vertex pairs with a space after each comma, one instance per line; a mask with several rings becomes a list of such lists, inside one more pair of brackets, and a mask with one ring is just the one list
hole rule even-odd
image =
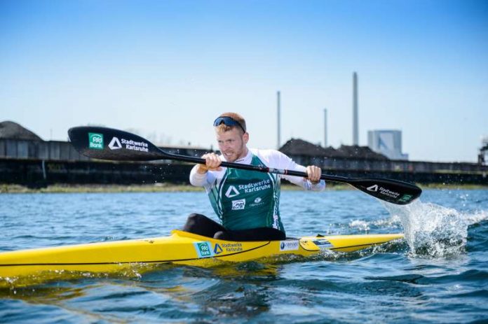
[[249, 134], [242, 132], [238, 127], [233, 127], [229, 132], [215, 130], [219, 150], [227, 162], [234, 162], [248, 154], [245, 144], [248, 143]]

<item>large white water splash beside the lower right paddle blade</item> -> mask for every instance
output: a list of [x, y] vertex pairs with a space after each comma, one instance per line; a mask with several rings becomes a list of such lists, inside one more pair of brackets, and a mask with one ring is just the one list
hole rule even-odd
[[414, 258], [449, 258], [464, 253], [468, 226], [488, 217], [484, 211], [466, 214], [419, 199], [405, 206], [384, 206], [400, 218]]

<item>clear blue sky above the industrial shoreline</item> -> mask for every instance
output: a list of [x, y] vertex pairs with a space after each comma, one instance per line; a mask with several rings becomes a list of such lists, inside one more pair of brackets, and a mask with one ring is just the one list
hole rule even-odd
[[411, 160], [475, 162], [488, 136], [488, 1], [0, 1], [0, 121], [215, 147], [224, 111], [250, 146], [401, 129]]

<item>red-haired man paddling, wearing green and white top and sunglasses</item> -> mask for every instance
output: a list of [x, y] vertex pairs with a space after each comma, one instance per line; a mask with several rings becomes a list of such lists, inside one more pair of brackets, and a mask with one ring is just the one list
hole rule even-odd
[[[183, 230], [228, 241], [285, 239], [279, 211], [280, 178], [305, 190], [321, 191], [325, 188], [325, 181], [320, 180], [322, 170], [296, 164], [278, 150], [249, 149], [245, 120], [238, 113], [223, 113], [214, 121], [214, 127], [222, 155], [203, 155], [206, 164], [191, 169], [190, 183], [205, 188], [222, 225], [192, 213]], [[303, 171], [308, 177], [224, 168], [220, 167], [222, 161]]]

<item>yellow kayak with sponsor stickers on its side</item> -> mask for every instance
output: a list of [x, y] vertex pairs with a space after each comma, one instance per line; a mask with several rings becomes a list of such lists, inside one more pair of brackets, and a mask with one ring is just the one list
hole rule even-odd
[[219, 260], [243, 262], [283, 254], [307, 257], [321, 250], [358, 251], [402, 237], [403, 234], [365, 234], [238, 242], [173, 230], [169, 237], [0, 253], [0, 278], [10, 280], [46, 272], [113, 273], [133, 265], [161, 263], [212, 267]]

